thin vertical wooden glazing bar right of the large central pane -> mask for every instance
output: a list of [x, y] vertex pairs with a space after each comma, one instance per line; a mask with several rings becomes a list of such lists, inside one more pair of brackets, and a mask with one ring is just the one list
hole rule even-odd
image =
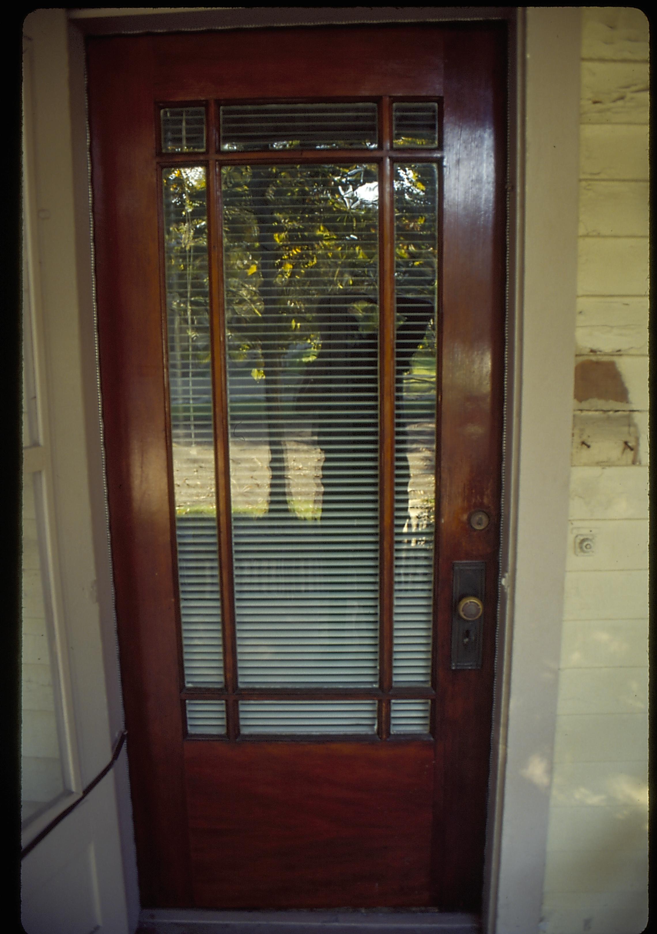
[[395, 211], [389, 155], [392, 104], [388, 96], [381, 102], [380, 113], [384, 159], [379, 165], [379, 685], [387, 696], [379, 703], [378, 729], [385, 740], [390, 735], [395, 586]]

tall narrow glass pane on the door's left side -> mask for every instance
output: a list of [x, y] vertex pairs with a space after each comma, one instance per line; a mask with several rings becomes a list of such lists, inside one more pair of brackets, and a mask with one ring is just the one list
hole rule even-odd
[[162, 173], [175, 484], [185, 683], [221, 686], [221, 608], [208, 300], [205, 169]]

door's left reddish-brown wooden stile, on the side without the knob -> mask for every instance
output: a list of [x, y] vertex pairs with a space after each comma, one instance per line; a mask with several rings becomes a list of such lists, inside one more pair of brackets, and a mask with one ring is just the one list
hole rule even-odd
[[[94, 265], [140, 892], [145, 907], [175, 908], [191, 903], [192, 886], [160, 327], [161, 190], [153, 162], [152, 38], [140, 37], [136, 46], [138, 52], [131, 41], [88, 41]], [[166, 781], [154, 783], [155, 775]]]

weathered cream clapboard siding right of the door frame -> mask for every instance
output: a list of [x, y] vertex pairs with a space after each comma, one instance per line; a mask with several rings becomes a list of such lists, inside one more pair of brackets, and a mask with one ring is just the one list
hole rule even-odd
[[542, 916], [549, 934], [638, 934], [648, 918], [649, 28], [634, 8], [581, 17], [577, 466]]

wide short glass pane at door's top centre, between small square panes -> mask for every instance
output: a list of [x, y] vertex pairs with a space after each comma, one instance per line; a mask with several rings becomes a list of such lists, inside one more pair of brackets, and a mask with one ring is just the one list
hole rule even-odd
[[221, 149], [376, 149], [376, 104], [220, 107]]

